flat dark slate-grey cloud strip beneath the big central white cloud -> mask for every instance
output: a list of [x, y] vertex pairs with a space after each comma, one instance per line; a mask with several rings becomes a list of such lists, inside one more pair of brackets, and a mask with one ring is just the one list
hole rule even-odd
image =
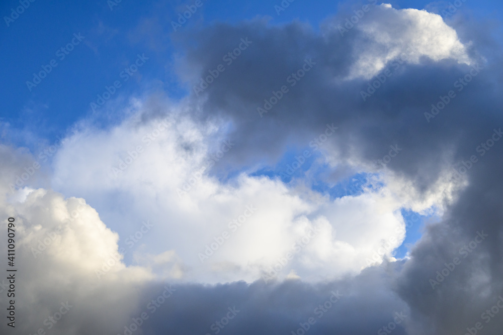
[[[298, 329], [303, 325], [309, 327], [306, 333], [311, 334], [363, 335], [377, 333], [393, 323], [395, 317], [398, 323], [391, 325], [396, 326], [394, 333], [404, 334], [403, 325], [410, 315], [406, 304], [390, 292], [392, 268], [393, 265], [387, 264], [365, 270], [357, 279], [318, 285], [300, 280], [275, 284], [257, 281], [216, 286], [173, 285], [173, 294], [154, 311], [152, 305], [147, 308], [148, 303], [170, 288], [158, 285], [142, 294], [148, 298], [143, 303], [145, 308], [137, 314], [147, 312], [148, 318], [141, 326], [145, 334], [246, 335], [291, 334], [292, 331], [301, 334], [302, 330]], [[369, 309], [369, 305], [373, 308]], [[125, 330], [123, 327], [122, 333]]]

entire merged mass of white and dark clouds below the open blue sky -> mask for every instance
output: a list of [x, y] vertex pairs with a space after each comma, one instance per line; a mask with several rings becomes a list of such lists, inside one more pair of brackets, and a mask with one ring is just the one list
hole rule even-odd
[[[478, 53], [497, 47], [436, 14], [369, 8], [344, 34], [351, 12], [319, 32], [259, 18], [188, 34], [186, 97], [145, 94], [113, 126], [82, 121], [18, 190], [34, 158], [1, 146], [19, 333], [497, 333], [501, 60]], [[264, 172], [306, 152], [302, 176]], [[320, 191], [356, 175], [358, 192]], [[438, 219], [397, 259], [403, 210]]]

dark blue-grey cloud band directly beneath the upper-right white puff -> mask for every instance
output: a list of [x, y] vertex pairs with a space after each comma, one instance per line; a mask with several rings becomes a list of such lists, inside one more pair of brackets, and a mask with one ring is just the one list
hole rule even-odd
[[[336, 23], [341, 20], [333, 19]], [[224, 64], [222, 56], [240, 38], [253, 42], [199, 92], [204, 99], [202, 118], [222, 116], [235, 123], [233, 136], [240, 150], [226, 159], [240, 164], [253, 164], [265, 156], [274, 160], [287, 143], [306, 147], [325, 124], [334, 123], [339, 131], [330, 144], [343, 158], [379, 159], [390, 144], [399, 143], [406, 151], [391, 167], [426, 187], [436, 180], [446, 151], [463, 151], [472, 138], [467, 133], [490, 129], [494, 122], [485, 115], [497, 113], [494, 72], [480, 70], [448, 108], [427, 122], [424, 113], [430, 112], [431, 104], [457, 89], [455, 81], [470, 71], [469, 66], [453, 60], [404, 64], [363, 101], [360, 91], [367, 89], [369, 81], [342, 79], [354, 62], [355, 48], [367, 43], [357, 27], [341, 36], [333, 28], [315, 33], [301, 23], [275, 27], [254, 21], [238, 27], [217, 25], [192, 38], [197, 47], [187, 50], [187, 62], [200, 72], [193, 75], [191, 88], [209, 70]], [[316, 64], [291, 87], [287, 78], [302, 68], [306, 58]], [[264, 108], [264, 99], [273, 97], [273, 91], [280, 91], [283, 85], [289, 91], [261, 118], [257, 108]]]

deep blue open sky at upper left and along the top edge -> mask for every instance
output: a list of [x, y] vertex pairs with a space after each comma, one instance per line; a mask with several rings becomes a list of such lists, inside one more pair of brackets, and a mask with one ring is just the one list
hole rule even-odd
[[[281, 2], [277, 2], [280, 4]], [[423, 9], [426, 1], [394, 1], [394, 8], [411, 7]], [[137, 54], [145, 54], [148, 62], [141, 67], [134, 80], [125, 83], [117, 95], [130, 95], [152, 89], [149, 83], [159, 80], [163, 90], [173, 97], [187, 93], [187, 87], [181, 86], [175, 77], [172, 60], [175, 49], [172, 40], [173, 30], [164, 25], [155, 34], [165, 34], [161, 45], [148, 45], [148, 41], [138, 36], [138, 31], [145, 26], [142, 22], [154, 17], [160, 23], [176, 20], [185, 3], [153, 2], [149, 6], [123, 1], [112, 10], [106, 1], [93, 3], [71, 3], [55, 1], [51, 3], [34, 2], [14, 22], [3, 24], [0, 36], [2, 68], [4, 80], [0, 89], [4, 95], [2, 109], [5, 118], [13, 130], [32, 133], [34, 139], [42, 138], [51, 142], [57, 135], [64, 133], [76, 121], [90, 116], [90, 103], [97, 95], [105, 91], [127, 64], [134, 62]], [[189, 3], [187, 3], [189, 4]], [[211, 22], [236, 23], [250, 20], [257, 16], [270, 16], [271, 24], [287, 23], [300, 20], [311, 24], [315, 29], [326, 19], [327, 13], [337, 14], [339, 6], [359, 5], [339, 4], [332, 1], [317, 2], [314, 6], [304, 6], [296, 0], [278, 16], [275, 2], [203, 2], [194, 17], [179, 32], [195, 29], [197, 25]], [[10, 13], [19, 6], [16, 1], [5, 1], [0, 5], [0, 12]], [[467, 1], [463, 6], [474, 11], [476, 16], [488, 16], [496, 19], [501, 4], [495, 2]], [[177, 10], [180, 9], [180, 10]], [[155, 29], [155, 28], [153, 28]], [[66, 46], [73, 38], [73, 33], [85, 36], [82, 43], [75, 46], [65, 59], [60, 60], [56, 52]], [[176, 36], [173, 36], [176, 38]], [[33, 73], [42, 70], [42, 66], [55, 59], [58, 63], [40, 84], [30, 91], [26, 81], [33, 79]], [[115, 122], [99, 118], [103, 127]], [[16, 144], [32, 146], [24, 137], [18, 138], [16, 131], [9, 135], [9, 140]]]

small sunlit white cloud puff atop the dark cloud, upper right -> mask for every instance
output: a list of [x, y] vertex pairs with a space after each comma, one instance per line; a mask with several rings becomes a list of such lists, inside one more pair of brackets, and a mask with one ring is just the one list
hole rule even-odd
[[453, 59], [472, 63], [456, 31], [440, 15], [426, 10], [397, 10], [382, 4], [363, 17], [355, 29], [364, 33], [365, 42], [355, 46], [357, 60], [349, 79], [370, 79], [393, 60], [418, 64], [421, 57], [428, 57], [436, 62]]

